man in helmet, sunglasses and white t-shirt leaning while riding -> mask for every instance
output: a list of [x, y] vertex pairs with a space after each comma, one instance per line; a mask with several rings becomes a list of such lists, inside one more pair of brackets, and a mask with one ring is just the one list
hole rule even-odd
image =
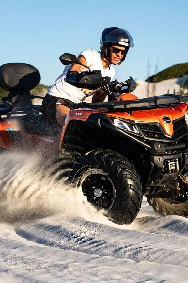
[[[79, 54], [78, 60], [91, 71], [100, 70], [102, 76], [109, 76], [111, 81], [115, 75], [113, 65], [119, 65], [125, 60], [130, 47], [133, 47], [133, 38], [128, 31], [111, 27], [102, 32], [100, 49], [88, 49]], [[60, 126], [65, 123], [66, 116], [73, 108], [73, 103], [81, 103], [86, 97], [93, 95], [92, 102], [101, 102], [106, 98], [106, 93], [100, 88], [94, 91], [77, 88], [65, 82], [67, 76], [87, 71], [83, 65], [72, 64], [65, 67], [63, 73], [50, 86], [42, 103], [42, 113], [51, 124], [57, 122]]]

